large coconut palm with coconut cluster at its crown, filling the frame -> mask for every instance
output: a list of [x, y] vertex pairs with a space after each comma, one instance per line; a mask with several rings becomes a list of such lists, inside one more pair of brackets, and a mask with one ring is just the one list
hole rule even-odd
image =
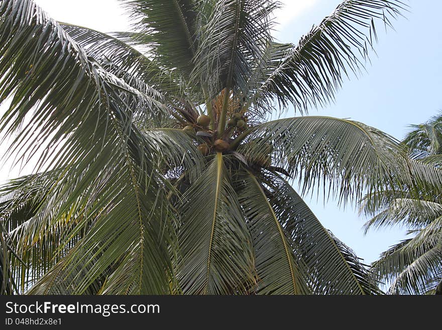
[[122, 3], [134, 31], [103, 34], [0, 0], [0, 127], [37, 160], [2, 188], [2, 290], [379, 293], [300, 194], [442, 176], [362, 123], [267, 118], [332, 100], [404, 5], [344, 1], [293, 45], [271, 0]]

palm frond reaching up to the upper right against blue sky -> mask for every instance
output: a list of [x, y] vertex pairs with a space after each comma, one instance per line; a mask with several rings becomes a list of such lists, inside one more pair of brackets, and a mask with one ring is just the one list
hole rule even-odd
[[391, 27], [405, 8], [397, 0], [344, 1], [289, 52], [284, 46], [282, 61], [263, 77], [254, 98], [276, 97], [301, 113], [333, 100], [343, 78], [364, 67], [377, 40], [375, 21]]

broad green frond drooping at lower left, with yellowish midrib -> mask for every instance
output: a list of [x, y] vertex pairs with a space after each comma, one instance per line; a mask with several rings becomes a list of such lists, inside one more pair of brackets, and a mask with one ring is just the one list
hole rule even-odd
[[[80, 203], [82, 209], [74, 214], [75, 226], [58, 242], [58, 253], [62, 253], [64, 246], [80, 236], [71, 253], [63, 255], [55, 268], [39, 279], [31, 293], [42, 293], [40, 290], [48, 287], [48, 281], [52, 283], [56, 270], [59, 270], [56, 275], [64, 276], [65, 280], [59, 283], [66, 292], [84, 293], [111, 266], [113, 271], [108, 276], [113, 281], [103, 286], [103, 292], [170, 292], [173, 255], [169, 246], [173, 246], [173, 217], [165, 191], [156, 182], [153, 171], [141, 170], [127, 154], [120, 155], [120, 162], [114, 165], [115, 170], [104, 169], [104, 177], [93, 182], [92, 194], [83, 198], [87, 204]], [[68, 194], [70, 198], [75, 195], [75, 191]], [[48, 225], [52, 227], [62, 216], [55, 213], [49, 217]], [[88, 269], [81, 273], [82, 277], [77, 273], [80, 264], [82, 269]], [[69, 276], [73, 277], [72, 282], [66, 281]]]

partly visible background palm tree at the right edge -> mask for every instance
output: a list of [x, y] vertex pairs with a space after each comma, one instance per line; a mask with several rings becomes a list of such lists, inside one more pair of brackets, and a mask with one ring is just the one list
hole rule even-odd
[[[403, 144], [412, 159], [440, 168], [442, 115], [412, 125]], [[408, 238], [383, 252], [372, 264], [381, 280], [391, 283], [391, 294], [442, 294], [442, 202], [431, 186], [385, 191], [365, 206], [374, 215], [365, 228], [401, 226]]]

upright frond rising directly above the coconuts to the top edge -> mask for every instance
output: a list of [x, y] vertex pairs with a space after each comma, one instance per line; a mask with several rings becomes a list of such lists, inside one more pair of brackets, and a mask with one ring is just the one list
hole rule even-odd
[[223, 88], [238, 97], [247, 91], [254, 63], [264, 61], [271, 40], [270, 14], [278, 6], [270, 0], [216, 2], [202, 27], [192, 73], [193, 80], [208, 85], [210, 96]]

